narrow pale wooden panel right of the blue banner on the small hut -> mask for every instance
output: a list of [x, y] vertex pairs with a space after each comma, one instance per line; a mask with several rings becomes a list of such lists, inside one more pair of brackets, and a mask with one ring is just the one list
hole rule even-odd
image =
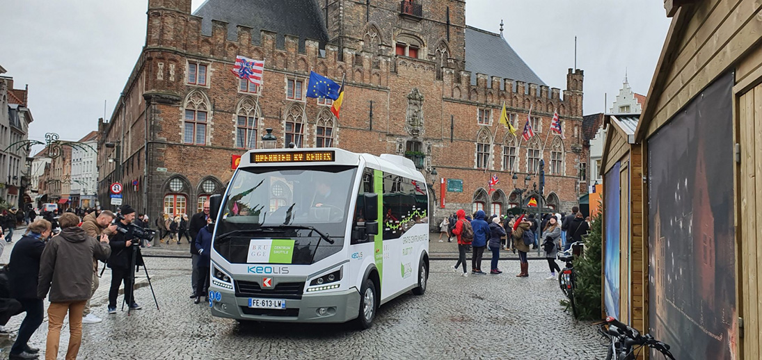
[[629, 161], [620, 169], [620, 321], [632, 326], [629, 315]]

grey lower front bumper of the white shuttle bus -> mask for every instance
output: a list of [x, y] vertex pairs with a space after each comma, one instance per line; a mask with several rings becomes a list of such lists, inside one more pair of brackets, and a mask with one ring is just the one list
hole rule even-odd
[[211, 301], [212, 315], [237, 320], [277, 321], [293, 323], [345, 323], [360, 311], [357, 288], [339, 292], [305, 294], [301, 299], [286, 299], [286, 309], [248, 307], [246, 297], [235, 297], [229, 290], [219, 290], [219, 301]]

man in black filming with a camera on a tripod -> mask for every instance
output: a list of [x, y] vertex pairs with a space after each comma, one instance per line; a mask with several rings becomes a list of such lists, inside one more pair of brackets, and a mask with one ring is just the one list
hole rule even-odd
[[[130, 308], [139, 310], [142, 308], [133, 298], [133, 284], [130, 281], [133, 269], [133, 249], [131, 246], [139, 244], [140, 239], [133, 237], [133, 228], [130, 226], [135, 219], [135, 210], [130, 205], [123, 205], [122, 212], [117, 216], [117, 231], [110, 239], [111, 256], [108, 258], [108, 267], [111, 268], [111, 288], [108, 292], [108, 314], [117, 314], [117, 295], [119, 285], [124, 284], [124, 299]], [[140, 256], [140, 253], [137, 253]], [[142, 259], [136, 259], [136, 265], [142, 266]]]

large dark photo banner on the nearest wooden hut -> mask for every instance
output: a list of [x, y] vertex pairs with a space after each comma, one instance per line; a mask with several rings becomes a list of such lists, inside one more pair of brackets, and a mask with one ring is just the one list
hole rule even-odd
[[736, 358], [732, 84], [648, 139], [649, 325], [675, 358]]

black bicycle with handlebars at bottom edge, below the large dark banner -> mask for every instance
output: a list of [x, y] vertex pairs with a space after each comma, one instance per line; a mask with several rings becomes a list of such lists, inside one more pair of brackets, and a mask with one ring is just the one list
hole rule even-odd
[[[607, 326], [608, 328], [606, 328]], [[643, 346], [661, 352], [664, 358], [674, 360], [674, 356], [669, 351], [669, 345], [654, 339], [651, 334], [640, 335], [638, 330], [620, 323], [613, 317], [607, 317], [606, 321], [600, 324], [598, 333], [607, 337], [611, 342], [606, 360], [634, 360], [640, 354]]]

